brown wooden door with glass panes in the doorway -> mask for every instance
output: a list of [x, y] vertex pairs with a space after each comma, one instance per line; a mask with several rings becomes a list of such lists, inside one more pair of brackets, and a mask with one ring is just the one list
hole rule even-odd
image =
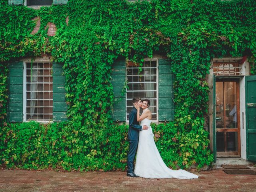
[[240, 156], [239, 80], [216, 80], [216, 155]]

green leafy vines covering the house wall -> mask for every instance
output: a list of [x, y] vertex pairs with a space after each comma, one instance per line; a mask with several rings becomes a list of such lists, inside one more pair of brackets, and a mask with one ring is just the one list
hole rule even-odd
[[[212, 58], [248, 56], [256, 74], [255, 0], [68, 0], [34, 10], [0, 1], [0, 163], [7, 168], [124, 170], [126, 125], [111, 119], [111, 66], [161, 54], [175, 74], [175, 120], [153, 125], [172, 168], [210, 165], [205, 80]], [[36, 20], [40, 28], [32, 34]], [[48, 22], [56, 25], [48, 36]], [[68, 122], [6, 122], [7, 64], [51, 56], [64, 65]]]

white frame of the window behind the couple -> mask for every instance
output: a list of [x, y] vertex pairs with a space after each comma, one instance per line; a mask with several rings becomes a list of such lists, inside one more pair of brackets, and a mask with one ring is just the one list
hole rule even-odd
[[[158, 122], [158, 59], [157, 58], [144, 58], [144, 61], [156, 61], [156, 120], [152, 120], [152, 122]], [[126, 80], [127, 80], [127, 66], [125, 68], [126, 73]], [[127, 90], [126, 90], [127, 91]], [[143, 98], [142, 98], [143, 99]], [[126, 122], [128, 123], [129, 120], [127, 119], [127, 115], [130, 111], [127, 111], [127, 93], [125, 94], [125, 109], [126, 109]]]

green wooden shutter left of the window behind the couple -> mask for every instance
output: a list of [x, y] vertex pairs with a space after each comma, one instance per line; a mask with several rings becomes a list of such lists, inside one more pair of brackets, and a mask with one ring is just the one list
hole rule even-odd
[[111, 83], [113, 86], [116, 102], [112, 110], [112, 118], [114, 121], [126, 121], [126, 96], [122, 95], [122, 89], [126, 81], [126, 62], [116, 60], [112, 66]]

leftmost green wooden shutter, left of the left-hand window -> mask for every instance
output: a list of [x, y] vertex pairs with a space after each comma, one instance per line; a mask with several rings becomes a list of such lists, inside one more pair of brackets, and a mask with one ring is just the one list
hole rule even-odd
[[23, 62], [9, 64], [7, 121], [23, 121]]

